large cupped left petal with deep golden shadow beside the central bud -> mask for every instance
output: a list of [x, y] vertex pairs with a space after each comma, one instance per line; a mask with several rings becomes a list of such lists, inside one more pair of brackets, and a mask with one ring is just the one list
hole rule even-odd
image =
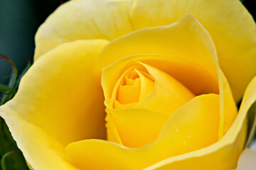
[[33, 64], [16, 96], [1, 106], [1, 117], [33, 169], [74, 169], [63, 158], [65, 145], [105, 139], [103, 95], [93, 67], [107, 43], [80, 40], [56, 47]]

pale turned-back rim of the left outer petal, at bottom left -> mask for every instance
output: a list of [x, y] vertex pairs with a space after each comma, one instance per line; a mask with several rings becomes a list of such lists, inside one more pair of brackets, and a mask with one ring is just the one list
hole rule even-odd
[[[1, 109], [2, 111], [2, 109]], [[42, 128], [19, 118], [11, 109], [0, 115], [6, 120], [11, 135], [23, 152], [31, 169], [78, 170], [65, 156], [63, 144]]]

